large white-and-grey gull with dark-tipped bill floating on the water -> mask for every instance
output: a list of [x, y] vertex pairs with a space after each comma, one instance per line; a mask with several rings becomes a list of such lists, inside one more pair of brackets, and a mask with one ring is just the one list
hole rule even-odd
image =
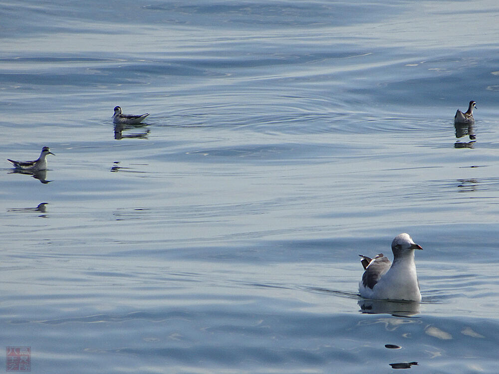
[[364, 274], [359, 282], [360, 296], [377, 300], [421, 301], [414, 250], [423, 249], [409, 234], [399, 234], [392, 241], [393, 264], [383, 253], [373, 259], [359, 255]]

